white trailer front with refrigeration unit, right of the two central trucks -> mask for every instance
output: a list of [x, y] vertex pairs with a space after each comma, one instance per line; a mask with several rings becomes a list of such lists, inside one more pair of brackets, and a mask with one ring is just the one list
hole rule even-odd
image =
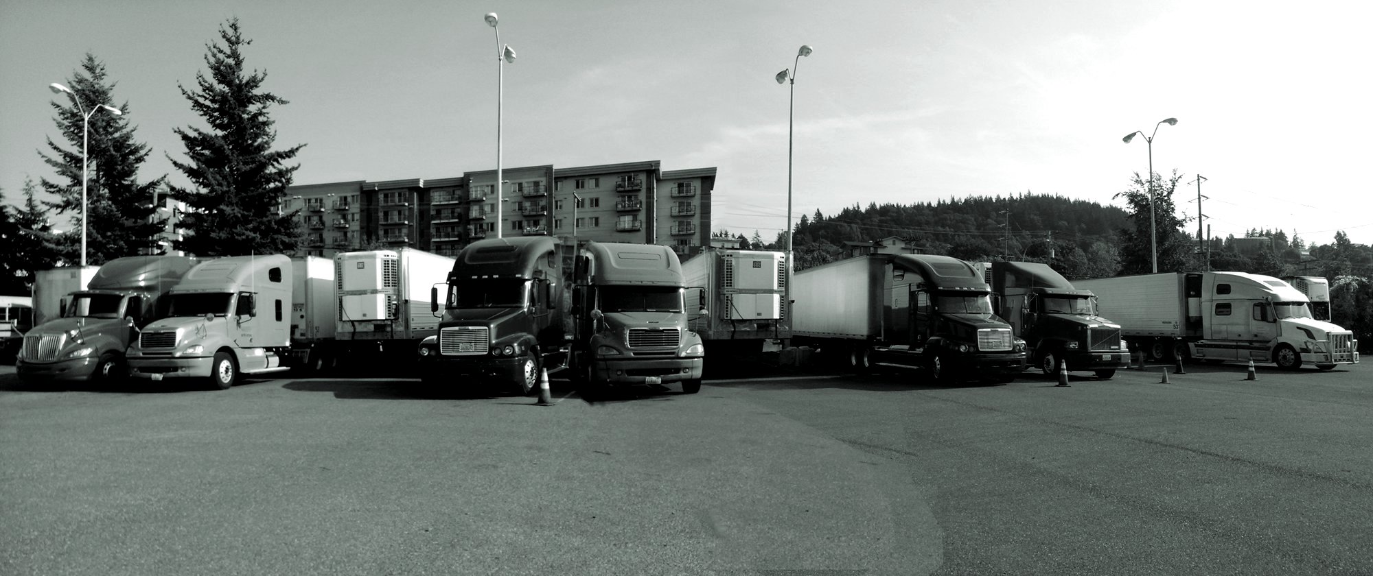
[[[710, 362], [781, 350], [791, 340], [784, 318], [787, 256], [754, 250], [707, 250], [682, 262], [688, 326], [710, 348]], [[700, 314], [700, 310], [706, 310]]]

